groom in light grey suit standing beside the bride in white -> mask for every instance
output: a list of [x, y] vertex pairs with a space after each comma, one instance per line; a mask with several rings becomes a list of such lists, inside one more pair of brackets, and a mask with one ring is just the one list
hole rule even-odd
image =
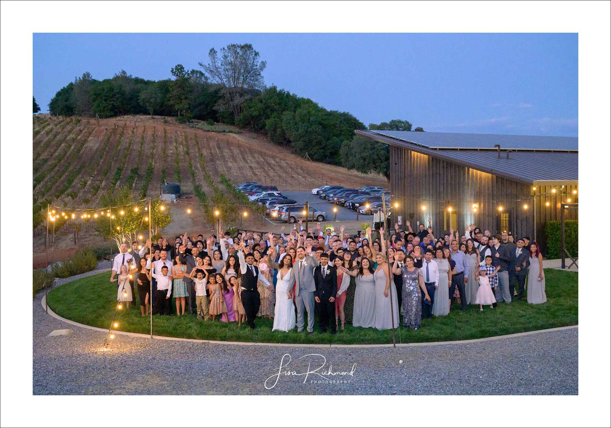
[[[276, 258], [276, 251], [270, 249], [268, 254], [268, 265], [274, 269], [280, 270], [280, 265], [273, 262]], [[316, 291], [316, 282], [314, 281], [314, 268], [318, 267], [319, 263], [312, 257], [312, 249], [307, 251], [300, 246], [297, 249], [297, 260], [293, 264], [291, 276], [288, 279], [289, 284], [295, 285], [295, 303], [297, 305], [297, 331], [301, 333], [304, 330], [305, 316], [304, 309], [307, 311], [307, 332], [312, 334], [314, 331], [314, 292]]]

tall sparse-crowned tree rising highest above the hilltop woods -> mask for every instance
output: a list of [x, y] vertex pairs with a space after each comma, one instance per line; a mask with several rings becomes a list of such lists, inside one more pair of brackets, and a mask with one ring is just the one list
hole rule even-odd
[[222, 97], [216, 108], [219, 111], [232, 111], [236, 122], [242, 103], [257, 90], [265, 89], [261, 73], [265, 70], [266, 62], [260, 61], [259, 56], [250, 43], [232, 43], [221, 49], [221, 59], [217, 51], [211, 48], [208, 52], [210, 62], [207, 65], [199, 63], [213, 83], [222, 88]]

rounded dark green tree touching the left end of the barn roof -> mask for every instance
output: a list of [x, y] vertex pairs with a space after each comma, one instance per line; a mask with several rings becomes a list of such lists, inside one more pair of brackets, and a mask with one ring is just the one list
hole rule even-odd
[[363, 174], [376, 172], [390, 179], [389, 146], [370, 138], [355, 135], [351, 141], [342, 144], [342, 164]]

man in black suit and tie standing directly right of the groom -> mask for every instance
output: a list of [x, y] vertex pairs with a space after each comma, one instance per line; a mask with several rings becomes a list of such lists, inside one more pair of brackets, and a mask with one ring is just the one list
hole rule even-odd
[[337, 294], [337, 271], [328, 265], [329, 254], [320, 254], [320, 265], [314, 269], [316, 292], [314, 300], [318, 306], [318, 327], [321, 333], [327, 332], [331, 321], [331, 334], [335, 334], [335, 295]]

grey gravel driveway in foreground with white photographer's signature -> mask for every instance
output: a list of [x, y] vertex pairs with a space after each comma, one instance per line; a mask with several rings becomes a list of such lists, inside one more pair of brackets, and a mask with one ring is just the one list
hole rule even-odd
[[[577, 328], [397, 349], [220, 345], [118, 335], [103, 352], [103, 333], [46, 315], [42, 295], [32, 301], [35, 395], [578, 393]], [[63, 328], [74, 331], [46, 338]]]

